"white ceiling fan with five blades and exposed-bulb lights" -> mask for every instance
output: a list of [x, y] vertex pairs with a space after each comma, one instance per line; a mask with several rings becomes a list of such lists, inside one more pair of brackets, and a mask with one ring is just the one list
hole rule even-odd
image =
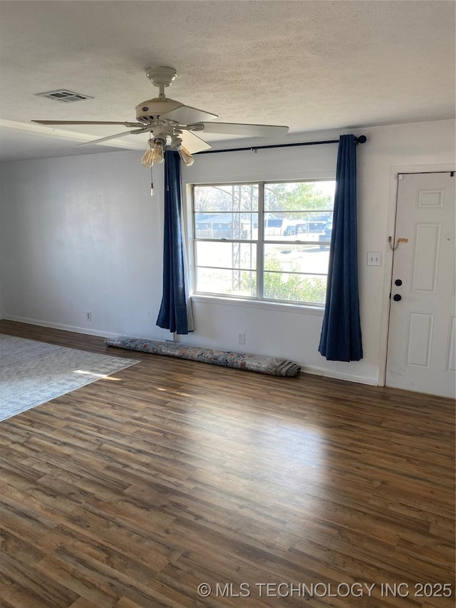
[[151, 67], [147, 68], [145, 73], [152, 84], [158, 87], [159, 94], [158, 97], [142, 101], [136, 106], [136, 122], [110, 120], [32, 120], [31, 122], [39, 125], [123, 125], [130, 129], [78, 145], [101, 143], [124, 135], [150, 133], [149, 147], [141, 161], [145, 167], [152, 167], [154, 163], [162, 163], [165, 145], [170, 145], [170, 148], [177, 150], [185, 165], [192, 165], [192, 154], [211, 147], [195, 133], [271, 138], [283, 137], [288, 133], [289, 128], [281, 125], [207, 122], [218, 118], [218, 115], [192, 108], [190, 105], [165, 96], [165, 87], [170, 86], [176, 77], [174, 68]]

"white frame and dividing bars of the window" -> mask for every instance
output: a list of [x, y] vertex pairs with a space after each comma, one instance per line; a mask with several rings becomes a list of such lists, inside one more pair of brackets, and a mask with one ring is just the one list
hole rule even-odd
[[[280, 307], [293, 307], [299, 309], [313, 309], [317, 314], [323, 311], [324, 303], [319, 302], [300, 302], [291, 300], [282, 300], [276, 298], [266, 298], [263, 294], [264, 289], [264, 246], [267, 244], [283, 244], [284, 240], [272, 240], [264, 239], [264, 187], [269, 184], [286, 184], [286, 183], [316, 183], [316, 182], [335, 182], [335, 176], [325, 177], [305, 177], [295, 178], [287, 180], [242, 180], [242, 181], [217, 181], [217, 182], [191, 182], [187, 184], [187, 201], [190, 205], [187, 205], [187, 252], [190, 259], [190, 297], [195, 301], [202, 300], [213, 300], [213, 301], [224, 301], [226, 304], [260, 304]], [[204, 239], [195, 237], [195, 187], [217, 187], [217, 186], [235, 186], [235, 185], [257, 185], [258, 186], [258, 234], [257, 239]], [[268, 212], [266, 212], [268, 213]], [[333, 213], [333, 210], [332, 210]], [[197, 291], [197, 254], [196, 246], [197, 242], [239, 242], [253, 243], [257, 245], [257, 294], [255, 296], [249, 296], [246, 294], [220, 294], [218, 292], [203, 292]], [[314, 244], [311, 240], [295, 239], [294, 241], [288, 241], [290, 244]], [[329, 244], [329, 242], [328, 242]], [[317, 273], [316, 273], [317, 274]], [[328, 273], [321, 274], [321, 276], [328, 276]]]

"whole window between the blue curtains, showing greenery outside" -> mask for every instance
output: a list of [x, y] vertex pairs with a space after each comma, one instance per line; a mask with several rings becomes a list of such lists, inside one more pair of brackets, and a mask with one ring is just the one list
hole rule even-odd
[[324, 304], [335, 186], [194, 185], [195, 293]]

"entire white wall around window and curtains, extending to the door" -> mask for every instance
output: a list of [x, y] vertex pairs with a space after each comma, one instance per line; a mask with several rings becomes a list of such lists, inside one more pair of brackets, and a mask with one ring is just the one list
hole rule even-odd
[[[381, 381], [392, 168], [454, 163], [455, 121], [343, 131], [350, 132], [368, 137], [358, 147], [363, 360], [323, 359], [318, 354], [322, 312], [294, 306], [197, 298], [197, 329], [181, 336], [182, 342], [284, 356], [309, 371]], [[289, 140], [332, 139], [339, 133]], [[200, 155], [182, 177], [187, 183], [333, 177], [336, 155], [337, 145]], [[158, 193], [151, 198], [150, 172], [139, 161], [137, 153], [109, 153], [3, 165], [0, 277], [6, 318], [102, 335], [169, 336], [155, 326], [161, 300], [162, 168], [154, 168]], [[367, 267], [367, 251], [383, 252], [383, 267]], [[91, 322], [85, 319], [88, 310]], [[245, 346], [237, 344], [239, 332], [246, 334]]]

